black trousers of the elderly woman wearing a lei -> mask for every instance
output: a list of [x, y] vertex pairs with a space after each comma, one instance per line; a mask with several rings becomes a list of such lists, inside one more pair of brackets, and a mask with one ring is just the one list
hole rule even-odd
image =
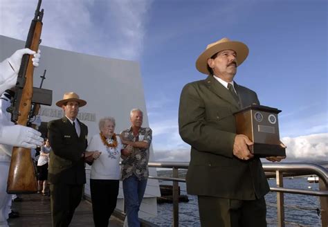
[[95, 227], [107, 227], [116, 208], [118, 180], [90, 179], [93, 221]]

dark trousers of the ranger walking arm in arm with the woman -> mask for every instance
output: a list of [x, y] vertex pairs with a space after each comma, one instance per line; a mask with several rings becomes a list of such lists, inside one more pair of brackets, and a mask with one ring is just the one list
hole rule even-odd
[[56, 183], [50, 185], [51, 189], [51, 217], [53, 227], [69, 226], [82, 199], [83, 185], [69, 185]]

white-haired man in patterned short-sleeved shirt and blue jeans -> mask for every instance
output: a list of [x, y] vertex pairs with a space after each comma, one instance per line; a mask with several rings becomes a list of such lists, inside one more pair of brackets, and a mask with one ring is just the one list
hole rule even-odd
[[149, 146], [152, 129], [143, 125], [143, 111], [130, 111], [131, 127], [122, 131], [120, 138], [131, 152], [122, 152], [122, 181], [129, 227], [139, 227], [138, 211], [148, 179]]

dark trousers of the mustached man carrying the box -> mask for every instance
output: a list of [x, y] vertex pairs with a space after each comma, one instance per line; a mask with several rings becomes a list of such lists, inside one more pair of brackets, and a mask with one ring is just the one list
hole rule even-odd
[[255, 200], [235, 200], [218, 197], [198, 197], [199, 217], [204, 227], [265, 227], [264, 197]]

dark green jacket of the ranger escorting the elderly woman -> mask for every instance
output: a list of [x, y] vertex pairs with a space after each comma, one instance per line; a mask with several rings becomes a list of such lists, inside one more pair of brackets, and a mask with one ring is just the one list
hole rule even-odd
[[48, 138], [52, 148], [48, 169], [50, 183], [86, 183], [82, 154], [88, 144], [88, 127], [80, 120], [78, 122], [80, 137], [66, 117], [48, 122]]

